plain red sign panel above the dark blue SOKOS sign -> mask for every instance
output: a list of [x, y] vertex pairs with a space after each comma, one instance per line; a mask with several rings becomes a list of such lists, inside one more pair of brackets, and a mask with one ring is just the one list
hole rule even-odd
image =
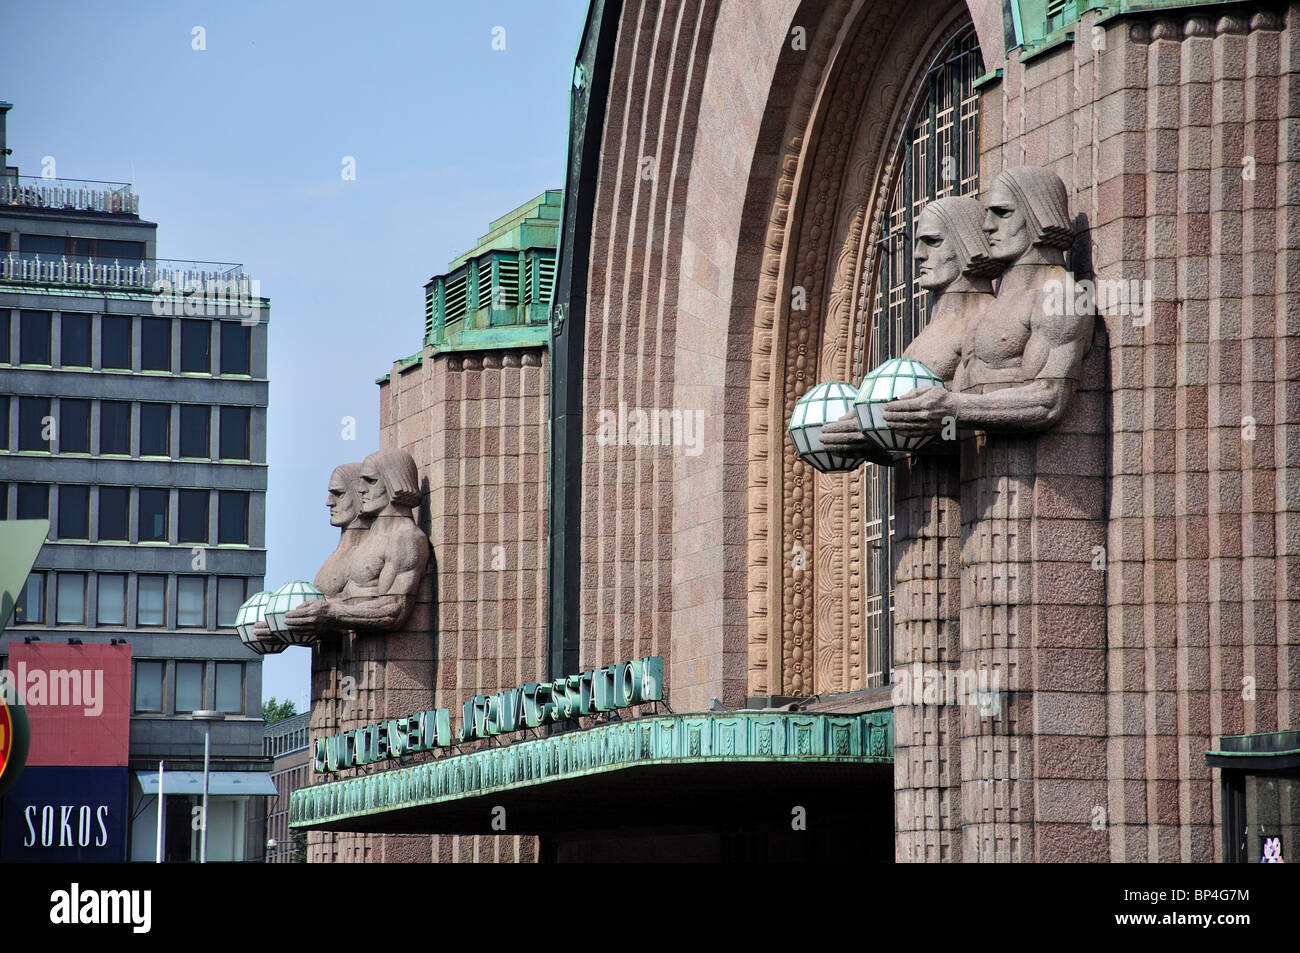
[[31, 727], [27, 764], [126, 766], [131, 646], [13, 642], [9, 675]]

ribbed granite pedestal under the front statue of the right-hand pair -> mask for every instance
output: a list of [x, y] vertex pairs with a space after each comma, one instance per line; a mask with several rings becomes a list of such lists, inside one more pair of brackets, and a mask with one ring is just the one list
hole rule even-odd
[[1106, 348], [1043, 434], [976, 434], [961, 456], [963, 861], [1105, 861]]

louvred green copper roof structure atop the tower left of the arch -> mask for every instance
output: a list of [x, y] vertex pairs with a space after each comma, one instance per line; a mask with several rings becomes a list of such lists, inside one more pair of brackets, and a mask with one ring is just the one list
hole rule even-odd
[[424, 343], [436, 351], [545, 345], [564, 192], [549, 190], [488, 226], [424, 286]]

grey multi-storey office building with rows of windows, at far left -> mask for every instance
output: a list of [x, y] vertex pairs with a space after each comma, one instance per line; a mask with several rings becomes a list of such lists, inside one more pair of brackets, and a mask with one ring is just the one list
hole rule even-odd
[[51, 521], [0, 657], [130, 642], [131, 859], [155, 855], [160, 759], [165, 853], [198, 855], [191, 712], [224, 712], [212, 857], [257, 858], [259, 798], [224, 781], [265, 775], [261, 659], [222, 636], [265, 572], [268, 302], [240, 265], [160, 260], [131, 186], [5, 166], [0, 192], [0, 519]]

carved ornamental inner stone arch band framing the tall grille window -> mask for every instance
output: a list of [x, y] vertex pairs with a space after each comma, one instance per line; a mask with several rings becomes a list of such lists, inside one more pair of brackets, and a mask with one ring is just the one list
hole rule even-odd
[[850, 377], [857, 302], [874, 267], [893, 144], [927, 64], [970, 22], [966, 4], [950, 0], [840, 4], [810, 30], [762, 222], [757, 295], [733, 309], [733, 328], [748, 320], [754, 335], [745, 382], [751, 696], [849, 692], [881, 675], [888, 681], [888, 662], [867, 658], [864, 636], [866, 471], [815, 475], [794, 458], [785, 421], [814, 384]]

